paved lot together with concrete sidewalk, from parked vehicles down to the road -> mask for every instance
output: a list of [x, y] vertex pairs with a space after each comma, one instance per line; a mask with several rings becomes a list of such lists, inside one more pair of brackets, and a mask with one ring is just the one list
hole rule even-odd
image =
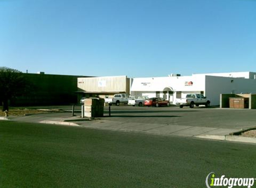
[[81, 118], [79, 107], [76, 107], [74, 117], [71, 116], [71, 106], [58, 106], [58, 108], [66, 112], [10, 116], [8, 120], [256, 143], [254, 138], [230, 135], [233, 132], [255, 127], [256, 110], [111, 106], [111, 116], [109, 116], [109, 107], [105, 106], [104, 117], [89, 119]]

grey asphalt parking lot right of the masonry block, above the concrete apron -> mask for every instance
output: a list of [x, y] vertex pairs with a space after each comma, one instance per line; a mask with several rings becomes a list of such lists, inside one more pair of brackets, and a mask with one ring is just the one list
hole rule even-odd
[[240, 129], [256, 126], [256, 110], [220, 109], [217, 107], [146, 107], [146, 106], [105, 106], [102, 119], [126, 122], [197, 127]]

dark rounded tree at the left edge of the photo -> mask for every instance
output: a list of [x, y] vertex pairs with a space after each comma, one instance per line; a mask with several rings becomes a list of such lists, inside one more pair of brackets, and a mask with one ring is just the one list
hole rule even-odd
[[8, 116], [8, 100], [20, 96], [26, 91], [26, 80], [17, 69], [0, 67], [0, 102], [5, 116]]

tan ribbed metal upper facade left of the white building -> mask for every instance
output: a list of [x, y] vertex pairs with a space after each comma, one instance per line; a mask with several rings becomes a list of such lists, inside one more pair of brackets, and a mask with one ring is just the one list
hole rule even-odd
[[127, 76], [78, 78], [78, 91], [85, 93], [130, 93], [130, 78]]

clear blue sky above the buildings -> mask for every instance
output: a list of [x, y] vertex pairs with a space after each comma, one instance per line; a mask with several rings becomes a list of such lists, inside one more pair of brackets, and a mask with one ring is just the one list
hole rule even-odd
[[0, 0], [0, 66], [129, 77], [256, 72], [256, 0]]

